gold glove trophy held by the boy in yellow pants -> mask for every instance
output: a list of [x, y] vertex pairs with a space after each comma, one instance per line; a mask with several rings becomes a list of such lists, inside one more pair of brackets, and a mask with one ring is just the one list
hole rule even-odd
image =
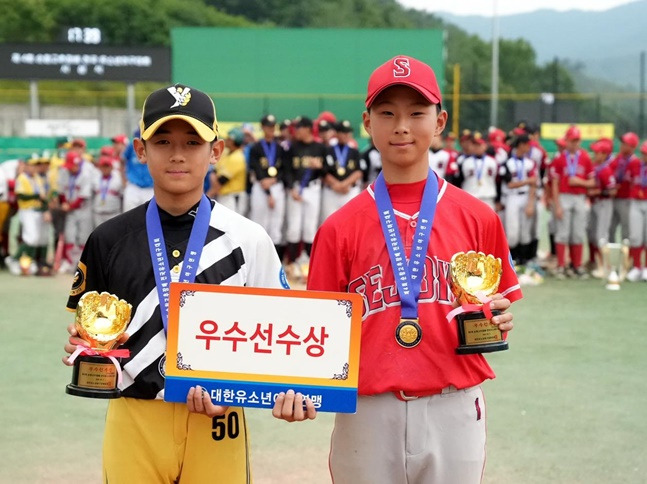
[[129, 350], [114, 350], [130, 322], [132, 306], [123, 299], [96, 291], [85, 293], [76, 307], [74, 326], [86, 343], [69, 358], [74, 363], [72, 383], [65, 392], [78, 397], [119, 398], [121, 366], [117, 358]]

